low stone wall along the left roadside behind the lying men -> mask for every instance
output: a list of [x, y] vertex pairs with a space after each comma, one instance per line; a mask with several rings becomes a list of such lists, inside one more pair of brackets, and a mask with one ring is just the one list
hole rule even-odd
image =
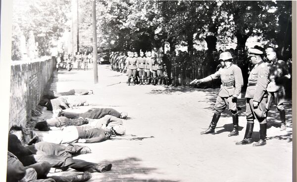
[[14, 61], [11, 64], [9, 129], [11, 126], [26, 126], [55, 65], [55, 57], [32, 62]]

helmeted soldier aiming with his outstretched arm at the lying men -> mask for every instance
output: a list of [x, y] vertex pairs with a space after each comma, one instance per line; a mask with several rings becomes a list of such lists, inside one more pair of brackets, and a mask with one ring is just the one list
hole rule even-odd
[[230, 52], [221, 53], [219, 60], [225, 63], [224, 67], [220, 68], [216, 73], [196, 81], [196, 83], [207, 82], [219, 77], [222, 81], [221, 89], [218, 93], [218, 97], [214, 106], [214, 114], [212, 120], [208, 129], [201, 132], [201, 134], [214, 134], [214, 129], [221, 116], [221, 113], [226, 108], [228, 108], [233, 119], [233, 130], [228, 135], [229, 137], [231, 137], [239, 134], [238, 110], [236, 107], [236, 103], [237, 97], [241, 94], [241, 89], [244, 83], [243, 74], [241, 72], [241, 69], [232, 63], [233, 57]]

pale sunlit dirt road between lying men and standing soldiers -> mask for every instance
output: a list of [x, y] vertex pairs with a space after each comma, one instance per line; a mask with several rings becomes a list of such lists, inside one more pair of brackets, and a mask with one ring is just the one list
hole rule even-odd
[[[95, 95], [74, 96], [87, 99], [92, 106], [72, 111], [93, 107], [127, 111], [131, 117], [124, 121], [128, 135], [153, 136], [86, 144], [92, 153], [76, 158], [113, 164], [112, 171], [93, 173], [91, 182], [292, 182], [292, 124], [287, 131], [280, 131], [275, 107], [269, 112], [267, 145], [236, 146], [245, 133], [244, 99], [239, 99], [239, 136], [228, 137], [232, 118], [227, 110], [219, 120], [216, 135], [200, 135], [209, 125], [218, 90], [128, 86], [126, 81], [126, 74], [100, 65], [96, 85], [93, 70], [59, 71], [52, 84], [58, 92], [94, 90]], [[288, 122], [292, 122], [292, 104], [285, 108]], [[258, 130], [255, 123], [254, 141], [258, 140]]]

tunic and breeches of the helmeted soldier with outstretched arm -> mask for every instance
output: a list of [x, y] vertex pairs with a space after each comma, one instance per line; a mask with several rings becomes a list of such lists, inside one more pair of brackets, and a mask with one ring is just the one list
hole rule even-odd
[[231, 64], [229, 68], [220, 68], [216, 73], [203, 78], [203, 80], [210, 81], [219, 77], [222, 84], [214, 106], [216, 113], [222, 113], [227, 107], [229, 110], [237, 110], [236, 103], [232, 102], [232, 96], [237, 97], [241, 93], [244, 83], [241, 69]]

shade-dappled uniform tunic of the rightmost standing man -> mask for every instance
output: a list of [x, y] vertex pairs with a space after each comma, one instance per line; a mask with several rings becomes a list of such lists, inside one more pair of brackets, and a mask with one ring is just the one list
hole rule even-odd
[[284, 78], [285, 75], [289, 74], [289, 69], [286, 62], [282, 60], [277, 60], [275, 63], [267, 64], [269, 68], [269, 83], [267, 86], [268, 92], [268, 102], [266, 108], [269, 109], [274, 100], [278, 109], [284, 109], [283, 103], [286, 101], [286, 92], [284, 87]]

